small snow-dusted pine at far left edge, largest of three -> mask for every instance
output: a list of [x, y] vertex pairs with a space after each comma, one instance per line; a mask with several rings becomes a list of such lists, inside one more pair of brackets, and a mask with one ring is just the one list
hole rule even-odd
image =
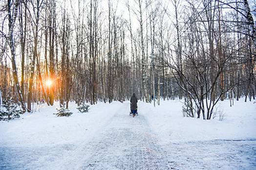
[[20, 118], [23, 111], [21, 107], [14, 102], [11, 94], [8, 94], [6, 99], [0, 105], [0, 120], [10, 120]]

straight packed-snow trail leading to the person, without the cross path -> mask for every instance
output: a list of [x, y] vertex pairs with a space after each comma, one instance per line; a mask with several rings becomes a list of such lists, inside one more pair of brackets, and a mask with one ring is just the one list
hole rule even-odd
[[128, 116], [124, 104], [89, 143], [65, 155], [60, 169], [79, 170], [168, 170], [166, 153], [157, 144], [143, 115]]

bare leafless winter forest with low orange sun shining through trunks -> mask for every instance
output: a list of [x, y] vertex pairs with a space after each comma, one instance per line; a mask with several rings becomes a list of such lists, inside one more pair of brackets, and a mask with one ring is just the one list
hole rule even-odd
[[[255, 100], [254, 0], [1, 0], [0, 105]], [[5, 103], [6, 104], [6, 103]]]

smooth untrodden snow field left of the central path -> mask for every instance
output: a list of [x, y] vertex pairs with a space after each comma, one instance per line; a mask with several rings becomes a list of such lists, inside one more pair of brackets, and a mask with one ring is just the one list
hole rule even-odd
[[[21, 119], [0, 122], [0, 146], [52, 146], [82, 142], [92, 137], [113, 115], [122, 108], [119, 102], [98, 103], [90, 106], [89, 113], [80, 113], [70, 103], [70, 117], [57, 117], [54, 106], [44, 104], [39, 112], [25, 113]], [[110, 109], [112, 111], [110, 111]]]

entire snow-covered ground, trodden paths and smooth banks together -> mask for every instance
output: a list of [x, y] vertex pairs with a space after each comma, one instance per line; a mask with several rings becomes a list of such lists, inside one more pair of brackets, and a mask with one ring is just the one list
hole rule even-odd
[[56, 117], [56, 103], [0, 122], [0, 170], [256, 169], [256, 103], [220, 102], [224, 120], [182, 117], [182, 102], [98, 103]]

